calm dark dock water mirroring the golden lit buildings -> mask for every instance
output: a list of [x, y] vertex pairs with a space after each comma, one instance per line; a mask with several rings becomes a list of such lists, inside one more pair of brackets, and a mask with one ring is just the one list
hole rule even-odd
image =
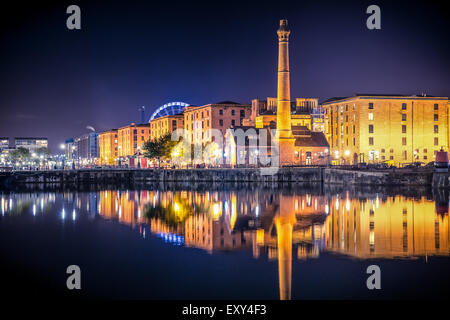
[[[409, 192], [411, 194], [411, 192]], [[448, 298], [448, 195], [170, 188], [0, 193], [11, 296]], [[65, 289], [79, 265], [82, 290]], [[366, 269], [381, 268], [381, 290]]]

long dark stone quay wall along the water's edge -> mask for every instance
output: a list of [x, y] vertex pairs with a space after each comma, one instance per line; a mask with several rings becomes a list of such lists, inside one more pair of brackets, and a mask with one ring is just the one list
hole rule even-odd
[[89, 184], [177, 182], [321, 183], [327, 185], [449, 187], [447, 173], [432, 171], [351, 171], [334, 168], [280, 168], [273, 175], [260, 169], [86, 169], [0, 173], [0, 186], [17, 184]]

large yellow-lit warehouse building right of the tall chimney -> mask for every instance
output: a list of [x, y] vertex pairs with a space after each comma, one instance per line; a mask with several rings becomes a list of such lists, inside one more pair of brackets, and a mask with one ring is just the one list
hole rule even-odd
[[333, 98], [325, 109], [333, 161], [399, 165], [434, 161], [449, 147], [447, 97], [356, 95]]

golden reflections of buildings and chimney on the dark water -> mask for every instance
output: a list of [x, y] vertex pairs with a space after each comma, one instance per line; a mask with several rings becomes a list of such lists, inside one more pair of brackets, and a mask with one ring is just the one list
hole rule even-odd
[[[62, 201], [57, 201], [62, 198]], [[292, 263], [332, 252], [356, 259], [449, 256], [448, 196], [252, 191], [104, 190], [1, 195], [3, 216], [55, 212], [101, 217], [143, 239], [208, 253], [247, 250], [278, 263], [280, 299], [290, 299]], [[124, 243], [126, 246], [126, 243]]]

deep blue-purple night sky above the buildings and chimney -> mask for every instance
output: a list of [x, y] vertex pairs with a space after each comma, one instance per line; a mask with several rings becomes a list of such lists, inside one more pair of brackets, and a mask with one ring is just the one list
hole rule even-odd
[[[50, 147], [167, 102], [276, 96], [279, 20], [291, 97], [450, 95], [450, 10], [436, 1], [58, 1], [2, 7], [0, 136]], [[81, 30], [66, 28], [67, 6]], [[381, 8], [368, 30], [366, 8]]]

